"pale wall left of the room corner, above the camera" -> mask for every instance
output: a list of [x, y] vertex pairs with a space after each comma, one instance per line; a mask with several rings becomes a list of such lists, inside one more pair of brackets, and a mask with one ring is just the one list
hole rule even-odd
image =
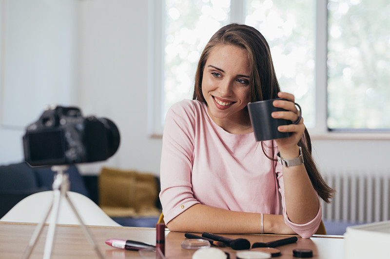
[[78, 0], [0, 0], [0, 164], [47, 105], [75, 103], [78, 16]]

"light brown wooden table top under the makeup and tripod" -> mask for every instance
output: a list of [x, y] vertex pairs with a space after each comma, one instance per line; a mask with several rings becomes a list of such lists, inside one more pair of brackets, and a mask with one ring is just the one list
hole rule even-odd
[[[34, 232], [36, 224], [0, 222], [0, 258], [20, 259]], [[156, 244], [155, 228], [138, 227], [104, 227], [88, 226], [98, 246], [107, 259], [142, 258], [137, 251], [127, 251], [113, 248], [105, 244], [105, 240], [111, 238], [136, 240]], [[30, 258], [42, 258], [48, 225], [44, 226], [42, 235]], [[52, 258], [98, 258], [96, 252], [85, 238], [78, 225], [58, 225], [55, 246]], [[289, 237], [287, 235], [223, 235], [229, 238], [245, 238], [251, 244], [254, 242], [270, 242]], [[191, 259], [195, 250], [187, 250], [180, 247], [185, 239], [182, 232], [166, 231], [165, 256], [168, 259]], [[277, 259], [294, 259], [294, 248], [308, 248], [313, 251], [314, 259], [342, 259], [344, 258], [344, 239], [342, 236], [314, 236], [311, 239], [298, 237], [296, 243], [279, 246], [282, 256]], [[236, 250], [230, 247], [221, 248], [235, 259]]]

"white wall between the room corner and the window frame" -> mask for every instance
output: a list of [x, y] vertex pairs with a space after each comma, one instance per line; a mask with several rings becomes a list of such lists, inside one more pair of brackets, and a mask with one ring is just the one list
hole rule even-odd
[[113, 120], [121, 133], [116, 155], [101, 165], [159, 173], [161, 140], [147, 134], [148, 1], [80, 1], [80, 107]]

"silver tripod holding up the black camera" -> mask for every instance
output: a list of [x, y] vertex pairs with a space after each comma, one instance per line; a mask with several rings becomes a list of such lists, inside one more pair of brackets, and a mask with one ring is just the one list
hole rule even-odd
[[35, 245], [37, 244], [37, 241], [39, 239], [40, 234], [42, 233], [43, 225], [45, 224], [47, 218], [49, 217], [50, 212], [52, 213], [52, 217], [50, 218], [49, 222], [49, 228], [47, 230], [47, 237], [45, 242], [45, 248], [43, 251], [43, 259], [50, 259], [52, 250], [53, 250], [53, 242], [56, 235], [56, 225], [57, 220], [59, 216], [59, 207], [61, 202], [61, 197], [65, 197], [68, 201], [70, 207], [72, 208], [73, 212], [75, 213], [78, 222], [80, 223], [81, 229], [84, 232], [85, 237], [89, 241], [89, 243], [93, 246], [95, 251], [97, 252], [100, 259], [104, 259], [103, 254], [100, 252], [98, 245], [96, 244], [94, 238], [92, 237], [91, 233], [89, 232], [88, 228], [85, 226], [85, 224], [82, 222], [76, 207], [73, 205], [72, 201], [69, 199], [69, 196], [67, 192], [70, 188], [70, 181], [69, 181], [69, 175], [67, 173], [64, 173], [68, 166], [52, 166], [52, 171], [56, 172], [54, 175], [54, 182], [53, 182], [53, 201], [45, 214], [45, 217], [42, 222], [40, 222], [37, 227], [34, 230], [34, 233], [30, 239], [30, 242], [28, 243], [28, 246], [26, 250], [24, 251], [22, 259], [27, 259], [30, 257]]

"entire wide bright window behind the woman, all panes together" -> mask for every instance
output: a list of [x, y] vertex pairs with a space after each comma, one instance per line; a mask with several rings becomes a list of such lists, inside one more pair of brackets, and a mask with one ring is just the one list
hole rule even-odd
[[[390, 77], [390, 39], [389, 29], [381, 24], [389, 24], [390, 4], [375, 2], [377, 5], [369, 0], [163, 1], [159, 26], [162, 24], [164, 32], [160, 38], [164, 76], [161, 85], [155, 85], [163, 91], [157, 91], [161, 96], [154, 99], [159, 116], [153, 132], [162, 133], [172, 104], [192, 99], [203, 47], [217, 29], [233, 21], [254, 26], [265, 36], [280, 87], [295, 95], [311, 133], [326, 133], [327, 128], [389, 129], [390, 117], [383, 118], [383, 112], [390, 110], [390, 104], [382, 100], [390, 100], [385, 86]], [[381, 10], [379, 17], [377, 10]], [[375, 22], [370, 17], [376, 17]]]

